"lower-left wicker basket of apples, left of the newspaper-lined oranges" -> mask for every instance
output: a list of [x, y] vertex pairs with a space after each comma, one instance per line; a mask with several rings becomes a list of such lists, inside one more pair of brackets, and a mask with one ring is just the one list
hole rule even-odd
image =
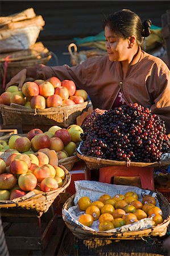
[[[57, 188], [53, 191], [49, 192], [40, 192], [37, 195], [31, 196], [27, 199], [24, 199], [25, 196], [14, 199], [13, 201], [0, 201], [0, 209], [1, 208], [25, 208], [25, 209], [35, 209], [36, 212], [47, 212], [53, 201], [56, 197], [65, 191], [65, 189], [71, 183], [71, 175], [68, 170], [59, 165], [65, 172], [65, 179], [63, 181], [63, 185], [60, 188]], [[27, 195], [27, 194], [26, 194]]]

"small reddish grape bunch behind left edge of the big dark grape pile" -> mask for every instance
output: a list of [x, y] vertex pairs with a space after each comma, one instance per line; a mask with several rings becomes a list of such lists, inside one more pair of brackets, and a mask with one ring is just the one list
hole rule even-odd
[[98, 117], [98, 115], [102, 115], [106, 111], [107, 110], [103, 110], [103, 109], [94, 109], [90, 114], [88, 114], [81, 125], [81, 128], [82, 130], [84, 130], [84, 133], [90, 129], [96, 117]]

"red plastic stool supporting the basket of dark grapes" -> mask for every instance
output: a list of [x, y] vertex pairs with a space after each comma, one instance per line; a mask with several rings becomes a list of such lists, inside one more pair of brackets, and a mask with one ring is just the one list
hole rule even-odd
[[127, 167], [127, 166], [107, 166], [99, 168], [99, 181], [110, 183], [114, 176], [139, 176], [142, 188], [155, 190], [154, 168], [152, 167]]

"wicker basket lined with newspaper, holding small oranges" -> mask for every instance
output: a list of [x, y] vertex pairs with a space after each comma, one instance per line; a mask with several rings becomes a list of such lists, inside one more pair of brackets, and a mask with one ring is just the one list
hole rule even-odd
[[[161, 193], [157, 193], [157, 200], [159, 201], [160, 208], [163, 211], [163, 223], [155, 226], [154, 228], [144, 229], [144, 230], [137, 230], [137, 231], [127, 231], [127, 232], [117, 232], [117, 233], [106, 233], [106, 232], [92, 232], [89, 230], [84, 230], [79, 226], [73, 226], [70, 223], [65, 221], [65, 225], [71, 230], [75, 237], [79, 239], [89, 239], [89, 238], [103, 238], [118, 240], [118, 239], [140, 239], [142, 237], [150, 237], [150, 236], [164, 236], [167, 233], [167, 228], [170, 222], [170, 209], [167, 199]], [[65, 202], [63, 209], [69, 209], [72, 207], [74, 200], [74, 195], [69, 197], [69, 199]]]

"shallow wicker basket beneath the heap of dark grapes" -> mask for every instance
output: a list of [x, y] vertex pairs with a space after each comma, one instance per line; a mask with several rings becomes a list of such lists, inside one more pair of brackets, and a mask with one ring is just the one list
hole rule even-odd
[[81, 143], [78, 145], [77, 148], [77, 156], [81, 160], [84, 160], [86, 166], [89, 170], [98, 169], [100, 167], [106, 166], [138, 166], [138, 167], [166, 167], [170, 164], [170, 159], [161, 160], [160, 162], [153, 162], [153, 163], [144, 163], [144, 162], [126, 162], [126, 161], [116, 161], [116, 160], [107, 160], [102, 158], [95, 158], [94, 156], [84, 155], [80, 151]]

